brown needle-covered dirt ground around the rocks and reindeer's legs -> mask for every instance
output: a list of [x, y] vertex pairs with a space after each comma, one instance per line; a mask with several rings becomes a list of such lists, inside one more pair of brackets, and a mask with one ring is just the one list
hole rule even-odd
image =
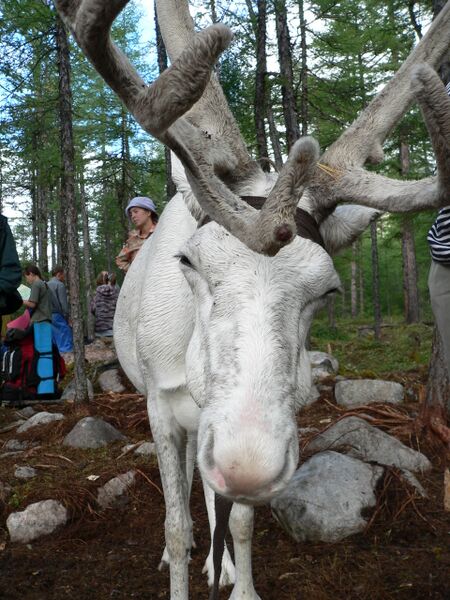
[[[403, 378], [408, 397], [417, 397], [422, 378], [420, 374]], [[130, 442], [149, 439], [143, 398], [131, 393], [96, 395], [88, 407], [51, 404], [40, 408], [64, 412], [66, 419], [21, 435], [14, 430], [0, 433], [0, 454], [11, 438], [38, 443], [21, 455], [0, 459], [0, 481], [13, 488], [8, 500], [0, 502], [0, 598], [168, 599], [168, 572], [157, 570], [164, 545], [164, 502], [156, 459], [123, 455], [123, 443], [90, 451], [61, 446], [64, 435], [87, 414], [103, 416]], [[257, 508], [253, 569], [263, 600], [450, 598], [450, 513], [443, 510], [442, 448], [420, 432], [412, 433], [418, 412], [414, 399], [400, 410], [386, 413], [384, 407], [372, 407], [364, 412], [386, 431], [420, 447], [432, 460], [433, 471], [420, 478], [428, 497], [419, 498], [392, 470], [380, 485], [376, 509], [366, 515], [367, 530], [335, 544], [296, 543], [274, 520], [270, 508]], [[299, 426], [323, 429], [340, 416], [342, 410], [329, 390], [300, 415]], [[0, 408], [0, 430], [14, 418], [12, 408]], [[39, 476], [26, 482], [16, 480], [15, 466], [25, 464], [34, 466]], [[97, 488], [129, 469], [135, 469], [138, 478], [128, 504], [99, 512]], [[89, 475], [99, 478], [90, 481]], [[65, 504], [70, 523], [31, 544], [12, 544], [5, 526], [8, 514], [47, 498]], [[201, 571], [209, 536], [198, 475], [191, 506], [197, 548], [190, 563], [190, 598], [207, 599]], [[230, 592], [223, 590], [221, 598], [228, 598]]]

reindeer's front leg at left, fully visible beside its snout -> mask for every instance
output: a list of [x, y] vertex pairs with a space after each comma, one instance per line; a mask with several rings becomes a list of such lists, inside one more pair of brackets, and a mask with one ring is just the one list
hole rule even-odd
[[192, 521], [188, 508], [186, 437], [176, 425], [164, 392], [158, 391], [149, 395], [147, 411], [166, 505], [165, 537], [170, 560], [170, 598], [188, 600]]

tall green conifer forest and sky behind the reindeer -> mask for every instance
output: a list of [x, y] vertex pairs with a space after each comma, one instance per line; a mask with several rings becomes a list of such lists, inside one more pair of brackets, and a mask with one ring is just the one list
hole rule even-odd
[[[443, 4], [191, 2], [198, 27], [223, 21], [235, 32], [218, 75], [250, 152], [272, 170], [300, 135], [313, 135], [325, 150], [392, 77]], [[166, 67], [152, 2], [131, 2], [113, 37], [146, 81]], [[448, 81], [448, 63], [441, 74]], [[174, 191], [170, 157], [99, 79], [50, 0], [1, 0], [0, 106], [0, 209], [23, 263], [45, 274], [66, 266], [72, 307], [78, 295], [78, 320], [91, 336], [86, 307], [96, 274], [115, 270], [129, 227], [124, 208], [133, 196], [148, 195], [163, 209]], [[417, 107], [385, 152], [379, 172], [433, 174]], [[336, 258], [343, 293], [328, 306], [328, 325], [336, 318], [432, 320], [426, 235], [434, 216], [384, 215]]]

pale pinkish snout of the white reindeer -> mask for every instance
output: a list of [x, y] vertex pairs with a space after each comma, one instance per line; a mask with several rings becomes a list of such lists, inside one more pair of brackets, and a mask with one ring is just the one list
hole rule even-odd
[[297, 461], [296, 439], [255, 431], [235, 436], [210, 432], [205, 456], [199, 455], [200, 469], [217, 493], [250, 503], [268, 502], [284, 489]]

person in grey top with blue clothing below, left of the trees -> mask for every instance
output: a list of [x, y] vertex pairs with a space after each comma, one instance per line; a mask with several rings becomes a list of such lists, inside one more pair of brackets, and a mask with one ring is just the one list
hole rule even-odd
[[52, 278], [47, 284], [52, 299], [53, 340], [60, 352], [72, 352], [73, 336], [69, 325], [69, 303], [64, 280], [63, 267], [56, 265], [52, 270]]

